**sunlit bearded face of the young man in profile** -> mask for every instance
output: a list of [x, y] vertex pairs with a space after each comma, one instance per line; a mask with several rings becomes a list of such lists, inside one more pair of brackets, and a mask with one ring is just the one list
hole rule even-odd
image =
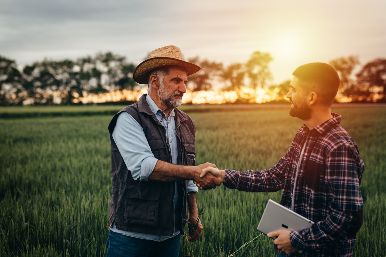
[[311, 118], [312, 109], [306, 103], [308, 92], [300, 85], [301, 81], [294, 76], [291, 81], [291, 90], [287, 94], [287, 98], [292, 102], [289, 115], [306, 121]]

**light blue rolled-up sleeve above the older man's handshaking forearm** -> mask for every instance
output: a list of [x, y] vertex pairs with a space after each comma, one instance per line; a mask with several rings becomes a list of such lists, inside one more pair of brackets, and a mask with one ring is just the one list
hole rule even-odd
[[122, 112], [112, 137], [134, 180], [147, 181], [158, 159], [154, 158], [141, 125], [130, 114]]

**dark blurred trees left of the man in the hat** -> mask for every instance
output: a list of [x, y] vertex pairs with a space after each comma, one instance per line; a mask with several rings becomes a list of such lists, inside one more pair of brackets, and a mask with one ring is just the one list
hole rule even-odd
[[0, 105], [71, 104], [85, 93], [134, 89], [134, 69], [124, 56], [111, 52], [75, 61], [44, 59], [22, 70], [15, 60], [0, 56]]

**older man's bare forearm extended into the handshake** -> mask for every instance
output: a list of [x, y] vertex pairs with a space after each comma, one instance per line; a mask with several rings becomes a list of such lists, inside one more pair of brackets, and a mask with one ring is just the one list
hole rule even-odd
[[158, 160], [149, 180], [162, 182], [195, 180], [200, 172], [201, 170], [197, 166], [176, 165]]

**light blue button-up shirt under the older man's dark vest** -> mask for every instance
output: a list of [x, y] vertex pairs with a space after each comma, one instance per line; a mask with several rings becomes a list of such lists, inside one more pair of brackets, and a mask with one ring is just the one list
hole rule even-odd
[[[146, 96], [146, 101], [149, 104], [151, 111], [156, 115], [156, 118], [161, 122], [162, 119], [162, 111], [158, 108], [156, 103], [151, 99], [149, 95]], [[168, 118], [164, 117], [162, 119], [161, 124], [166, 129], [166, 137], [168, 138], [168, 143], [171, 150], [172, 163], [177, 163], [178, 157], [178, 146], [177, 146], [177, 134], [176, 134], [176, 124], [174, 121], [174, 109], [170, 111]], [[124, 159], [124, 162], [127, 166], [127, 169], [131, 171], [131, 175], [134, 180], [148, 180], [149, 176], [154, 170], [158, 159], [154, 158], [153, 153], [151, 152], [151, 148], [149, 143], [147, 143], [147, 139], [145, 133], [141, 127], [135, 121], [135, 119], [128, 113], [123, 112], [117, 118], [117, 124], [112, 133], [112, 137], [117, 144], [120, 154]], [[176, 213], [175, 217], [175, 225], [174, 225], [174, 235], [173, 236], [160, 236], [160, 235], [150, 235], [144, 233], [136, 233], [129, 232], [124, 230], [119, 230], [115, 226], [115, 222], [112, 224], [111, 230], [116, 233], [121, 233], [123, 235], [128, 235], [131, 237], [146, 239], [146, 240], [154, 240], [154, 241], [163, 241], [174, 237], [179, 234], [178, 226], [177, 226], [177, 218], [180, 217], [178, 212], [178, 190], [177, 183], [175, 183], [175, 195], [174, 195], [174, 207]], [[193, 183], [193, 181], [189, 181], [188, 183], [188, 192], [198, 192], [198, 188]]]

